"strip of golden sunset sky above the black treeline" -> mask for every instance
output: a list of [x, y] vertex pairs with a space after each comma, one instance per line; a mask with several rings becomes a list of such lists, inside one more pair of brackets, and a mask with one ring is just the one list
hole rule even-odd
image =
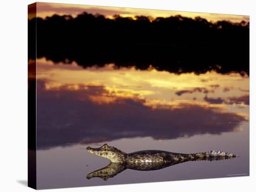
[[[76, 17], [78, 14], [87, 12], [92, 14], [102, 14], [108, 18], [118, 14], [122, 17], [135, 17], [137, 15], [156, 17], [169, 17], [181, 15], [183, 17], [195, 18], [200, 16], [208, 21], [216, 22], [218, 20], [229, 20], [231, 22], [241, 22], [242, 20], [249, 22], [249, 16], [244, 15], [228, 15], [228, 14], [214, 14], [214, 13], [195, 13], [195, 12], [179, 12], [179, 11], [163, 11], [153, 9], [137, 9], [137, 8], [122, 8], [122, 7], [108, 7], [108, 6], [86, 6], [74, 4], [59, 4], [59, 3], [37, 3], [37, 17], [46, 18], [54, 14], [58, 15], [72, 15]], [[30, 14], [29, 19], [35, 15]]]

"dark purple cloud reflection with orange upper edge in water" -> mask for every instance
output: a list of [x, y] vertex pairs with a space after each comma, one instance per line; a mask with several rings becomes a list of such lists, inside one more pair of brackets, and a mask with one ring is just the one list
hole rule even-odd
[[247, 121], [242, 113], [207, 102], [157, 104], [136, 94], [115, 95], [104, 86], [65, 84], [46, 90], [45, 81], [37, 84], [38, 149], [121, 138], [221, 134], [236, 131], [239, 123]]

